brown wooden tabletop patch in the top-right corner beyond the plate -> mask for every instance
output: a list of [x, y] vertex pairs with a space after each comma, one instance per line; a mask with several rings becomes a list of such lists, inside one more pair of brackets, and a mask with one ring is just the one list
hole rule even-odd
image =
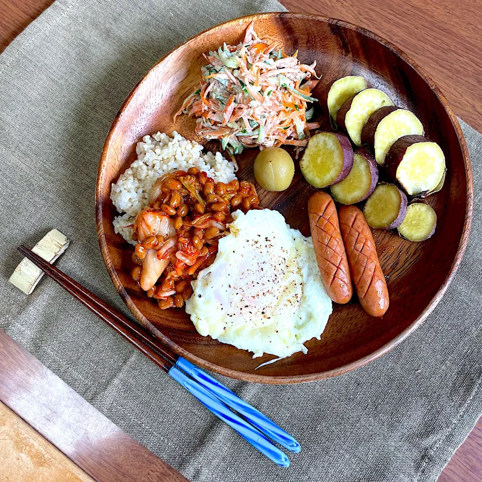
[[288, 10], [343, 19], [393, 42], [421, 65], [455, 113], [482, 132], [482, 8], [473, 0], [283, 0]]

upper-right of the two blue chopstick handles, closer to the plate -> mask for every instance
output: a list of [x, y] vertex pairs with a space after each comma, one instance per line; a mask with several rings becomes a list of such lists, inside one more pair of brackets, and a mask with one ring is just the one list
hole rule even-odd
[[221, 402], [224, 402], [228, 407], [231, 407], [236, 410], [236, 412], [243, 415], [249, 422], [268, 435], [272, 440], [292, 452], [299, 452], [301, 450], [300, 444], [289, 433], [285, 432], [281, 427], [276, 425], [266, 415], [263, 415], [259, 410], [252, 407], [249, 403], [240, 399], [235, 393], [231, 392], [231, 390], [219, 383], [215, 378], [212, 378], [182, 356], [177, 359], [176, 366], [190, 375], [194, 380], [198, 381], [204, 388], [221, 400]]

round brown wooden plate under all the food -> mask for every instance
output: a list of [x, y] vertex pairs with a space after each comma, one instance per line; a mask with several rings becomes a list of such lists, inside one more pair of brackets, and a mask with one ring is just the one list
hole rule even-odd
[[[173, 114], [197, 84], [202, 53], [222, 42], [235, 45], [249, 23], [258, 35], [285, 52], [299, 49], [303, 63], [317, 62], [322, 79], [314, 91], [320, 118], [327, 127], [326, 91], [344, 75], [362, 75], [396, 105], [412, 110], [426, 135], [445, 153], [447, 177], [443, 189], [428, 198], [438, 216], [437, 230], [422, 243], [405, 241], [395, 232], [374, 231], [377, 250], [390, 292], [390, 309], [383, 319], [370, 317], [356, 300], [333, 305], [321, 340], [306, 343], [308, 354], [295, 353], [280, 362], [255, 368], [273, 356], [252, 359], [248, 351], [200, 336], [184, 310], [161, 311], [131, 279], [132, 247], [114, 234], [116, 214], [110, 186], [135, 160], [135, 145], [146, 134], [177, 130], [188, 139], [194, 121]], [[322, 112], [321, 112], [322, 111]], [[206, 144], [219, 148], [217, 143]], [[238, 162], [239, 179], [254, 181], [248, 149]], [[270, 193], [259, 188], [261, 205], [279, 210], [292, 227], [309, 235], [307, 200], [314, 189], [303, 179], [299, 163], [290, 188]], [[472, 212], [472, 173], [467, 147], [457, 119], [434, 82], [403, 52], [374, 33], [339, 20], [315, 15], [270, 13], [232, 20], [207, 30], [163, 57], [134, 88], [117, 114], [100, 160], [96, 215], [100, 248], [112, 281], [136, 318], [169, 347], [191, 362], [222, 375], [260, 383], [287, 384], [332, 377], [367, 364], [413, 331], [434, 309], [462, 258]], [[443, 329], [443, 327], [441, 328]], [[430, 340], [427, 340], [430, 342]]]

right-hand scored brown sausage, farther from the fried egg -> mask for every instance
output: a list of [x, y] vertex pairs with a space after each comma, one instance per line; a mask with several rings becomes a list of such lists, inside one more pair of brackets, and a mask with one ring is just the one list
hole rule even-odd
[[390, 303], [387, 282], [380, 266], [370, 226], [355, 206], [338, 211], [351, 279], [363, 309], [372, 316], [383, 316]]

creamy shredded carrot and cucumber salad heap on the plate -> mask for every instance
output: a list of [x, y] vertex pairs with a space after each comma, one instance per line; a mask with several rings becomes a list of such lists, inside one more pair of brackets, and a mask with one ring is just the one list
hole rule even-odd
[[252, 23], [242, 43], [204, 54], [208, 64], [201, 68], [200, 89], [184, 100], [175, 117], [200, 117], [196, 134], [220, 140], [231, 159], [245, 147], [301, 149], [309, 129], [319, 127], [306, 118], [319, 77], [316, 62], [302, 64], [297, 56], [298, 51], [289, 56], [261, 40]]

